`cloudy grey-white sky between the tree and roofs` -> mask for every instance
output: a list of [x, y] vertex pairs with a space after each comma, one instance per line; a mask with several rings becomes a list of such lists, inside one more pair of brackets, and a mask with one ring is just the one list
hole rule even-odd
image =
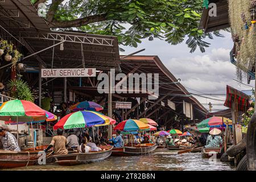
[[[231, 34], [222, 32], [225, 38], [207, 40], [211, 43], [205, 53], [199, 49], [195, 53], [189, 53], [190, 49], [185, 43], [172, 46], [162, 40], [144, 40], [138, 48], [122, 47], [126, 51], [121, 55], [129, 54], [139, 49], [146, 48], [138, 55], [158, 55], [164, 65], [175, 75], [181, 78], [181, 84], [194, 89], [192, 93], [226, 93], [226, 85], [238, 90], [250, 90], [249, 86], [238, 84], [233, 78], [236, 76], [236, 67], [230, 63], [229, 52], [233, 47]], [[243, 81], [246, 84], [246, 80]], [[251, 81], [254, 86], [254, 81]], [[196, 92], [198, 90], [199, 92]]]

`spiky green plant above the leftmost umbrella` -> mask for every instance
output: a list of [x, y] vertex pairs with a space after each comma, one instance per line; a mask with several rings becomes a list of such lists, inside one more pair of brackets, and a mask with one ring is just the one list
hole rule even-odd
[[11, 95], [18, 100], [34, 101], [34, 96], [27, 82], [23, 80], [9, 80], [7, 88]]

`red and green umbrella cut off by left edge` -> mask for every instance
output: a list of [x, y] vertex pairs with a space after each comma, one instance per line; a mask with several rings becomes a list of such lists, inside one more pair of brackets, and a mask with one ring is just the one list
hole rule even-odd
[[46, 111], [30, 101], [11, 100], [0, 106], [0, 119], [3, 121], [42, 121], [47, 119]]

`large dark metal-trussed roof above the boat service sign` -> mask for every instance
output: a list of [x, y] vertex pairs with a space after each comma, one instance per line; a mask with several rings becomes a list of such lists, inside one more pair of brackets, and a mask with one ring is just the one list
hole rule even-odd
[[52, 31], [46, 20], [38, 15], [30, 0], [0, 1], [0, 16], [0, 30], [4, 28], [9, 32], [7, 34], [2, 30], [3, 35], [10, 40], [13, 36], [18, 39], [26, 48], [22, 51], [25, 57], [64, 42], [61, 45], [64, 47], [63, 51], [60, 50], [60, 44], [55, 46], [54, 56], [53, 48], [49, 48], [24, 59], [24, 64], [38, 67], [38, 63], [41, 63], [44, 67], [51, 68], [53, 63], [53, 68], [81, 68], [84, 57], [87, 68], [109, 70], [118, 67], [119, 48], [115, 36], [92, 35], [79, 31]]

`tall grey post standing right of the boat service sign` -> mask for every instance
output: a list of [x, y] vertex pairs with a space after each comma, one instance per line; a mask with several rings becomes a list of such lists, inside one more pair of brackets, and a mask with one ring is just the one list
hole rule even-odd
[[[112, 118], [112, 74], [108, 72], [109, 77], [109, 93], [108, 93], [108, 115]], [[108, 126], [108, 138], [112, 138], [112, 125]]]

